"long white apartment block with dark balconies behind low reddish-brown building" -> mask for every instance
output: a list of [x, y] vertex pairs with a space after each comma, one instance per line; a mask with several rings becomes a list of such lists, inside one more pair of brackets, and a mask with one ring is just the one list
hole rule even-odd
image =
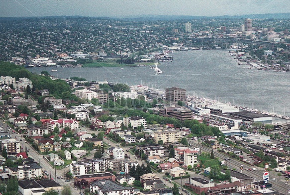
[[92, 173], [104, 173], [106, 172], [107, 160], [106, 159], [86, 159], [81, 162], [73, 162], [70, 170], [75, 176], [88, 175]]

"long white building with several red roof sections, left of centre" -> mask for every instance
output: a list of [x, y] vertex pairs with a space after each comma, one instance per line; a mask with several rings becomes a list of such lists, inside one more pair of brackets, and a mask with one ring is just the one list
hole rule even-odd
[[46, 126], [49, 131], [53, 131], [55, 127], [58, 127], [61, 130], [65, 127], [74, 130], [79, 128], [79, 122], [75, 119], [58, 119], [47, 121]]

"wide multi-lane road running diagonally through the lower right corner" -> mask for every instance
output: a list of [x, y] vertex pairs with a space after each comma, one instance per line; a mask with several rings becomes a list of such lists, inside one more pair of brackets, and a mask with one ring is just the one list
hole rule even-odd
[[[211, 148], [208, 148], [207, 146], [201, 146], [201, 144], [198, 144], [198, 141], [189, 140], [189, 143], [192, 144], [193, 147], [196, 147], [196, 148], [201, 147], [201, 152], [208, 152], [208, 153], [211, 152]], [[214, 152], [214, 155], [215, 157], [218, 157], [220, 160], [227, 159], [228, 157], [227, 155], [221, 152], [216, 152], [216, 151]], [[253, 167], [249, 166], [248, 164], [245, 164], [242, 161], [238, 161], [237, 159], [232, 159], [232, 158], [230, 159], [231, 159], [230, 160], [231, 169], [235, 168], [237, 171], [239, 171], [241, 168], [241, 165], [244, 165], [244, 170], [242, 172], [243, 174], [256, 178], [257, 179], [256, 181], [263, 180], [263, 174], [265, 172], [265, 169], [255, 167], [257, 168], [257, 171], [247, 171], [246, 168], [252, 169]], [[229, 162], [227, 162], [227, 165], [229, 167]], [[290, 186], [285, 185], [284, 177], [279, 178], [277, 174], [278, 173], [274, 171], [270, 172], [270, 179], [276, 178], [276, 181], [272, 180], [270, 182], [272, 184], [272, 189], [282, 194], [285, 194], [286, 192], [288, 193], [288, 189], [290, 188]]]

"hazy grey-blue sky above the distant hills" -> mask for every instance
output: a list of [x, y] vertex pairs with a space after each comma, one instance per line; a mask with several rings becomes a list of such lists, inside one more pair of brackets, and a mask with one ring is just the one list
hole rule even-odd
[[286, 12], [290, 12], [290, 0], [0, 0], [0, 17], [218, 16]]

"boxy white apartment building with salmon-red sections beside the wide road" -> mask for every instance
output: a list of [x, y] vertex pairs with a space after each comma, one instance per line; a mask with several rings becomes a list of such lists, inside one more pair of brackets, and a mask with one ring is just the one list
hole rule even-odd
[[193, 166], [194, 164], [197, 164], [197, 157], [198, 157], [198, 151], [193, 150], [188, 147], [178, 147], [174, 149], [174, 158], [179, 161], [183, 162], [184, 166]]

